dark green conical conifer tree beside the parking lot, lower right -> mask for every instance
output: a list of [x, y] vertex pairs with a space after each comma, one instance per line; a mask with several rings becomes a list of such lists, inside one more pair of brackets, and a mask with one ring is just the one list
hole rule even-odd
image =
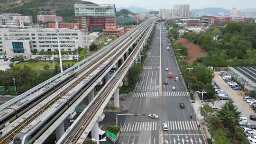
[[233, 99], [230, 99], [219, 109], [217, 116], [222, 121], [223, 125], [229, 129], [230, 133], [235, 132], [236, 126], [238, 125], [238, 118], [241, 112], [238, 111], [237, 106], [234, 105]]

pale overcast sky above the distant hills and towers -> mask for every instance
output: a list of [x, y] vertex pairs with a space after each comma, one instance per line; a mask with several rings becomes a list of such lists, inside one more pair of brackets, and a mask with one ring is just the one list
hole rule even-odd
[[173, 8], [174, 4], [190, 4], [191, 9], [217, 8], [256, 8], [256, 0], [87, 0], [98, 4], [115, 4], [119, 7], [137, 6], [146, 9]]

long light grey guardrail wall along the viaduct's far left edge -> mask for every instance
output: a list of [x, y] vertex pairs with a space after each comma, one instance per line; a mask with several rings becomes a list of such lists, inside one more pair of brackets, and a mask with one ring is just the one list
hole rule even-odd
[[[146, 20], [147, 21], [147, 20]], [[144, 21], [143, 23], [139, 24], [139, 26], [143, 25], [146, 21]], [[79, 63], [76, 63], [75, 65], [73, 65], [72, 67], [68, 68], [67, 70], [65, 70], [64, 72], [61, 72], [57, 75], [55, 75], [54, 77], [38, 84], [37, 86], [35, 86], [34, 88], [30, 89], [30, 90], [27, 90], [26, 92], [18, 95], [16, 98], [13, 98], [11, 100], [9, 100], [8, 102], [2, 104], [0, 106], [0, 110], [3, 110], [4, 108], [7, 108], [7, 107], [10, 107], [12, 105], [14, 105], [16, 102], [22, 100], [22, 99], [25, 99], [27, 98], [28, 96], [30, 96], [30, 94], [33, 94], [34, 92], [36, 92], [37, 90], [45, 87], [46, 85], [50, 84], [51, 82], [55, 81], [56, 79], [58, 78], [61, 78], [62, 76], [64, 76], [65, 74], [67, 73], [70, 73], [70, 72], [77, 72], [77, 71], [80, 71], [83, 67], [85, 67], [86, 65], [89, 64], [89, 62], [92, 62], [94, 61], [99, 55], [101, 55], [103, 52], [105, 52], [107, 49], [110, 49], [110, 48], [113, 48], [113, 45], [115, 45], [116, 43], [118, 43], [119, 41], [122, 41], [123, 38], [125, 36], [128, 36], [130, 35], [131, 33], [133, 33], [134, 31], [136, 31], [136, 29], [132, 29], [130, 30], [128, 33], [124, 34], [123, 36], [120, 36], [117, 40], [115, 40], [114, 42], [112, 42], [110, 45], [107, 45], [105, 46], [104, 48], [102, 48], [100, 51], [98, 51], [97, 53], [95, 54], [92, 54], [90, 57], [82, 60], [81, 62]]]

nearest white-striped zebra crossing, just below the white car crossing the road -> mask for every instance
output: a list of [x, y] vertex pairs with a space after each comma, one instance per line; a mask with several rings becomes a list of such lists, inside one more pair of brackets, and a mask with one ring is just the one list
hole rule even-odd
[[[165, 121], [169, 130], [200, 130], [197, 121]], [[160, 124], [162, 125], [162, 124]], [[155, 131], [159, 129], [158, 121], [149, 122], [126, 122], [123, 124], [122, 132]]]

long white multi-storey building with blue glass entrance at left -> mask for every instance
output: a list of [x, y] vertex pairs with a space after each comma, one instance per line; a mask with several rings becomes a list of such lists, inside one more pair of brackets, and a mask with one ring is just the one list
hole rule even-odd
[[[78, 46], [86, 45], [85, 33], [82, 30], [59, 28], [62, 51], [73, 51]], [[88, 40], [89, 41], [89, 40]], [[0, 53], [8, 55], [30, 54], [37, 51], [57, 51], [58, 41], [55, 28], [0, 28]]]

